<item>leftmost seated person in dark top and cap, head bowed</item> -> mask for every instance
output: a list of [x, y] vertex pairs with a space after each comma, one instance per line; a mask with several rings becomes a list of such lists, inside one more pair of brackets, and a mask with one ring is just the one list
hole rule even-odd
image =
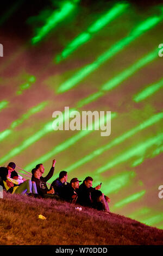
[[18, 174], [17, 172], [15, 171], [15, 167], [16, 167], [16, 164], [14, 162], [10, 162], [7, 166], [7, 168], [5, 167], [0, 167], [0, 185], [3, 186], [3, 189], [5, 190], [5, 187], [4, 187], [4, 183], [3, 181], [7, 182], [8, 184], [8, 187], [13, 187], [14, 185], [12, 184], [12, 182], [10, 182], [8, 179], [7, 179], [7, 175], [8, 173], [10, 172], [10, 178], [12, 179], [18, 179]]

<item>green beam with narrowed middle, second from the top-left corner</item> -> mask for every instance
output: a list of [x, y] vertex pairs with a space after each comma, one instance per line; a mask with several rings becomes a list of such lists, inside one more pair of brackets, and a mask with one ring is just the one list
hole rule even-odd
[[89, 41], [92, 38], [92, 35], [106, 26], [109, 22], [114, 20], [118, 15], [122, 14], [124, 10], [127, 9], [129, 4], [124, 3], [117, 3], [112, 7], [109, 11], [103, 14], [97, 21], [95, 21], [87, 31], [79, 34], [74, 40], [68, 44], [65, 49], [60, 53], [57, 54], [55, 57], [55, 62], [59, 63], [61, 60], [70, 56], [72, 52], [77, 50], [77, 48], [83, 45], [85, 42]]

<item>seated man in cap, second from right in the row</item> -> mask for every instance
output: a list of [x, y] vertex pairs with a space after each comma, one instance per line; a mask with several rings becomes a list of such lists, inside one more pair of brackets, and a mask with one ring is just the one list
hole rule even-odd
[[62, 199], [75, 204], [78, 198], [79, 182], [81, 182], [81, 180], [78, 180], [78, 178], [73, 178], [70, 181], [70, 185], [64, 186], [61, 191]]

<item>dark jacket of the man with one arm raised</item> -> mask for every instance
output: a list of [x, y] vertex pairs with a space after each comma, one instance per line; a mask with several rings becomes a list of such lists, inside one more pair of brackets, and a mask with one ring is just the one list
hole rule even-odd
[[46, 177], [40, 177], [40, 179], [37, 179], [32, 175], [32, 181], [36, 182], [36, 188], [37, 188], [37, 193], [40, 194], [40, 196], [43, 196], [43, 194], [47, 194], [48, 187], [46, 185], [46, 182], [52, 178], [54, 173], [54, 167], [52, 167], [49, 170], [49, 173], [46, 175]]

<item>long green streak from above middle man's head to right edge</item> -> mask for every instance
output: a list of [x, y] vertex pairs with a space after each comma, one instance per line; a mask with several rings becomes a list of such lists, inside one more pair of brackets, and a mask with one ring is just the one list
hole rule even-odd
[[76, 169], [77, 167], [81, 166], [82, 164], [92, 160], [93, 158], [101, 155], [104, 151], [111, 149], [112, 147], [126, 141], [126, 139], [130, 138], [131, 136], [135, 135], [137, 132], [146, 129], [147, 127], [155, 124], [156, 122], [160, 121], [163, 118], [163, 113], [155, 114], [151, 118], [147, 119], [140, 125], [134, 127], [133, 129], [129, 130], [128, 132], [124, 133], [123, 135], [115, 138], [113, 141], [107, 143], [105, 146], [94, 150], [91, 154], [82, 157], [82, 159], [78, 160], [77, 162], [73, 163], [71, 166], [67, 167], [67, 172], [71, 172], [72, 170]]

